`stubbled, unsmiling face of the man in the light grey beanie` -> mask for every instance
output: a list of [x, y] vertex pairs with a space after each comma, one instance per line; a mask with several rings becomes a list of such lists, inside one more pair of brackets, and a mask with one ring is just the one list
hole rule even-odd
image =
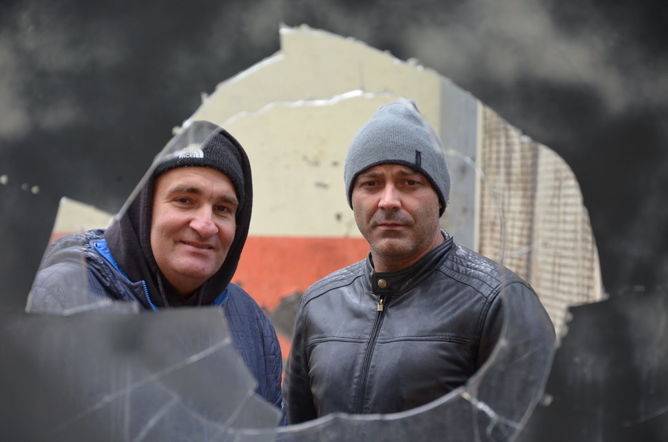
[[424, 175], [403, 165], [359, 173], [353, 185], [355, 222], [371, 247], [376, 271], [397, 271], [443, 242], [439, 198]]

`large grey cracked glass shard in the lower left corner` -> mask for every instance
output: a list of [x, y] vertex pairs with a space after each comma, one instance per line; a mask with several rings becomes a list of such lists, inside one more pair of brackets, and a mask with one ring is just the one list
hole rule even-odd
[[[253, 414], [255, 381], [236, 354], [220, 308], [140, 314], [3, 313], [3, 434], [23, 440], [182, 440]], [[238, 409], [240, 408], [240, 409]], [[170, 417], [170, 419], [167, 419]], [[165, 425], [171, 430], [165, 432]], [[196, 432], [198, 430], [199, 432]], [[210, 430], [207, 430], [210, 431]], [[18, 440], [14, 439], [14, 440]], [[163, 439], [164, 440], [164, 439]], [[200, 439], [201, 440], [201, 439]]]

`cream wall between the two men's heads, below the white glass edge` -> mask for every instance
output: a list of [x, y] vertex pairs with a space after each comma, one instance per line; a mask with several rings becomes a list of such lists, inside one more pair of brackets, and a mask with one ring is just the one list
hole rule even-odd
[[250, 235], [358, 237], [343, 171], [351, 139], [387, 95], [275, 103], [227, 129], [253, 169]]

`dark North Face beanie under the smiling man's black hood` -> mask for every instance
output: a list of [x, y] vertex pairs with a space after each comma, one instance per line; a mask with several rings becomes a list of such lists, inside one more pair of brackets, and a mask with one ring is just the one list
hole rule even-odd
[[227, 175], [234, 186], [239, 207], [244, 205], [244, 173], [238, 145], [225, 129], [209, 121], [193, 121], [174, 136], [161, 152], [153, 176], [177, 167], [210, 167]]

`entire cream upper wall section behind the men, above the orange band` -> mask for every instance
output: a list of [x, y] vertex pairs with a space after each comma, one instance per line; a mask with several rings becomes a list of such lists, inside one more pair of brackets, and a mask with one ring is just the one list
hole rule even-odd
[[343, 185], [348, 144], [402, 96], [439, 131], [441, 78], [307, 26], [282, 28], [280, 40], [280, 52], [220, 83], [191, 119], [222, 125], [247, 150], [251, 235], [359, 236]]

